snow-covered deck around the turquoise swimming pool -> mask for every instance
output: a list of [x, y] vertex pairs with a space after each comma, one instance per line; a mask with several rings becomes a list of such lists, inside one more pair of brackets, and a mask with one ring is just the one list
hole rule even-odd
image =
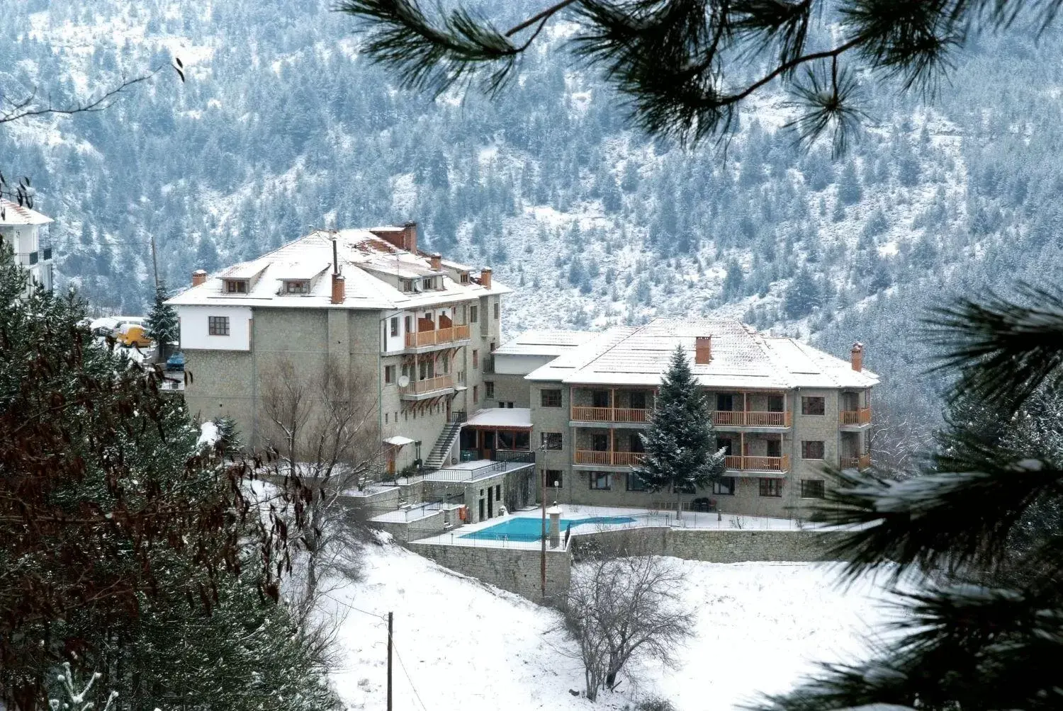
[[[604, 530], [614, 530], [618, 528], [644, 528], [646, 526], [669, 526], [674, 528], [697, 528], [706, 530], [808, 530], [814, 526], [809, 524], [798, 524], [798, 522], [791, 519], [767, 519], [762, 517], [737, 517], [735, 514], [716, 514], [714, 511], [709, 513], [695, 513], [691, 511], [684, 511], [682, 519], [676, 520], [675, 513], [668, 513], [664, 511], [651, 511], [649, 509], [636, 509], [636, 508], [618, 508], [608, 506], [578, 506], [560, 504], [561, 519], [569, 521], [578, 521], [579, 519], [593, 519], [597, 517], [629, 517], [635, 519], [631, 523], [596, 523], [588, 526], [584, 526], [580, 532], [586, 532], [589, 530], [595, 530], [595, 526], [600, 526]], [[504, 517], [494, 517], [493, 519], [487, 519], [486, 521], [480, 521], [479, 523], [469, 524], [449, 530], [445, 534], [439, 536], [433, 536], [432, 538], [424, 538], [419, 541], [419, 543], [436, 543], [443, 545], [461, 545], [461, 546], [476, 546], [476, 547], [490, 547], [490, 548], [533, 548], [538, 551], [542, 547], [541, 541], [512, 541], [512, 540], [497, 540], [497, 539], [477, 539], [477, 538], [465, 538], [469, 534], [475, 534], [477, 531], [490, 528], [492, 526], [497, 526], [501, 523], [511, 521], [512, 519], [541, 519], [542, 509], [535, 508], [524, 511], [516, 511], [513, 513], [508, 513]], [[546, 525], [550, 525], [550, 520], [547, 519]], [[562, 527], [561, 536], [564, 536], [564, 530]]]

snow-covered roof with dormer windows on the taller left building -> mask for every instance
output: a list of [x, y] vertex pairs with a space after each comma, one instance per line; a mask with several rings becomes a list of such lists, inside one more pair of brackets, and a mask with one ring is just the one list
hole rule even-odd
[[[402, 227], [374, 227], [381, 234]], [[470, 268], [441, 261], [433, 269], [432, 257], [395, 247], [369, 230], [317, 231], [250, 261], [213, 274], [203, 284], [173, 297], [174, 306], [277, 306], [284, 308], [416, 309], [471, 301], [487, 293], [512, 290], [492, 280], [485, 289], [476, 278], [462, 280]], [[344, 301], [332, 303], [333, 238], [344, 282]], [[403, 291], [400, 280], [435, 276], [439, 289]], [[250, 280], [247, 293], [226, 293], [223, 280]], [[310, 280], [309, 293], [286, 293], [284, 281]], [[420, 284], [418, 284], [420, 287]]]

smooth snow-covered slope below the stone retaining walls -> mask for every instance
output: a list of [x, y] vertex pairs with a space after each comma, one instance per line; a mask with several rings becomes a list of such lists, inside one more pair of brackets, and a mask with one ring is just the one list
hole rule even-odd
[[393, 611], [395, 711], [622, 709], [632, 692], [679, 711], [725, 710], [791, 688], [816, 660], [850, 658], [885, 619], [873, 581], [841, 589], [823, 564], [675, 563], [697, 610], [680, 668], [646, 668], [638, 690], [625, 682], [592, 705], [569, 692], [583, 688], [583, 672], [556, 613], [398, 546], [373, 547], [365, 579], [330, 593], [347, 615], [335, 683], [352, 709], [384, 708]]

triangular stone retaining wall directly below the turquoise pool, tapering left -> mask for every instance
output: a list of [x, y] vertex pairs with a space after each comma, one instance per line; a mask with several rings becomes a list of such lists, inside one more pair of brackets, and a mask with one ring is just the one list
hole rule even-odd
[[[535, 603], [542, 600], [541, 552], [535, 548], [492, 548], [487, 546], [410, 543], [414, 553], [431, 558], [443, 568], [497, 586]], [[567, 551], [546, 551], [546, 600], [564, 595], [569, 589], [572, 556]]]

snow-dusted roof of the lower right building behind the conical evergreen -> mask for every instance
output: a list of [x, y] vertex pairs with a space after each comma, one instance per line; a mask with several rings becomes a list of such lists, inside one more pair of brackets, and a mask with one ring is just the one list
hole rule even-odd
[[[707, 365], [693, 362], [699, 336], [712, 338]], [[765, 336], [733, 319], [655, 319], [638, 328], [610, 328], [527, 378], [652, 387], [660, 383], [676, 345], [689, 354], [694, 376], [707, 388], [868, 388], [878, 383], [877, 375], [853, 370], [848, 360], [793, 338]]]

